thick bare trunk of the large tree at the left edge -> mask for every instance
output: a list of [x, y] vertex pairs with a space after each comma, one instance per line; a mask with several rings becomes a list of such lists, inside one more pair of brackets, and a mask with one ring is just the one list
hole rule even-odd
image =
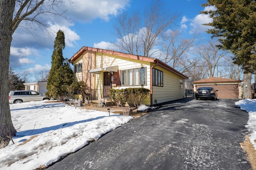
[[6, 147], [16, 130], [12, 124], [8, 100], [8, 70], [12, 42], [12, 16], [15, 0], [0, 0], [0, 144]]

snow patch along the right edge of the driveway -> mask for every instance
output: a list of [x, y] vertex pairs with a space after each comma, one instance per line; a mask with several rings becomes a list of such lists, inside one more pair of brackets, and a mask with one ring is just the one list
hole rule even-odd
[[235, 104], [242, 110], [247, 111], [249, 114], [249, 119], [245, 127], [250, 132], [250, 142], [252, 143], [254, 149], [256, 149], [256, 99], [240, 100]]

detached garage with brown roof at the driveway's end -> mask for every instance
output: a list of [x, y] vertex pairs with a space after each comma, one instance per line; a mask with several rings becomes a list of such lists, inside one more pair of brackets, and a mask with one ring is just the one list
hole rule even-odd
[[210, 77], [192, 83], [194, 84], [194, 92], [200, 87], [213, 87], [215, 90], [218, 90], [218, 98], [237, 99], [238, 96], [242, 96], [241, 82], [242, 80]]

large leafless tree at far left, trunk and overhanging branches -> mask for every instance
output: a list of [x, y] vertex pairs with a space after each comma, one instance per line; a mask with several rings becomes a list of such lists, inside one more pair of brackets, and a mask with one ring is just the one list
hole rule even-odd
[[[22, 23], [27, 28], [48, 27], [53, 19], [65, 16], [61, 10], [64, 0], [1, 0], [0, 1], [0, 148], [8, 145], [16, 130], [12, 124], [8, 102], [8, 70], [12, 35]], [[57, 17], [58, 16], [58, 17]], [[24, 26], [23, 25], [23, 26]]]

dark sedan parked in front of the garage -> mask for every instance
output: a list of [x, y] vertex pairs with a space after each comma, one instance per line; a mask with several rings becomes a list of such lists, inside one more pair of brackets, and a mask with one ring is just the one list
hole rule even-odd
[[196, 100], [200, 99], [217, 99], [218, 90], [215, 90], [213, 87], [200, 87], [196, 90]]

